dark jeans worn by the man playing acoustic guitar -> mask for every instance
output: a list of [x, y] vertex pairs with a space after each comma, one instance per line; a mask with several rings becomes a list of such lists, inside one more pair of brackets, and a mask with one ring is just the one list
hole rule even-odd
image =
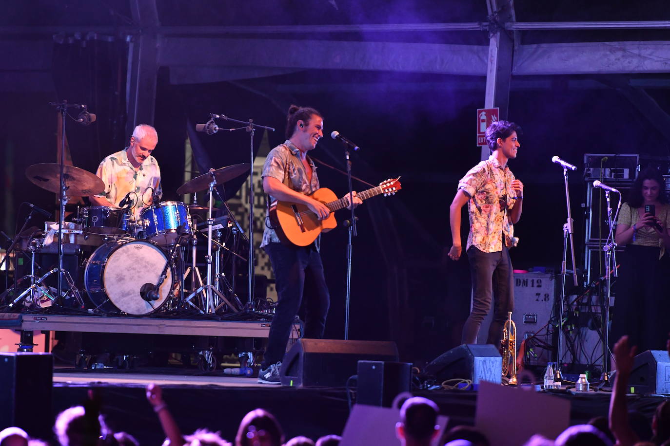
[[[314, 244], [306, 247], [285, 246], [281, 243], [265, 245], [275, 273], [277, 308], [270, 326], [267, 348], [261, 366], [267, 368], [284, 356], [303, 294], [305, 295], [304, 338], [320, 339], [324, 336], [330, 295], [324, 277], [321, 255]], [[305, 280], [310, 287], [305, 290]]]

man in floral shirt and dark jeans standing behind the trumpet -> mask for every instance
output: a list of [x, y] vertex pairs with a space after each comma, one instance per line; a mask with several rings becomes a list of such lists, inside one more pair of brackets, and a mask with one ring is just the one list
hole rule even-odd
[[496, 121], [488, 126], [486, 142], [492, 154], [458, 183], [449, 211], [453, 243], [449, 257], [458, 260], [462, 255], [461, 208], [468, 203], [470, 232], [466, 251], [472, 275], [472, 311], [463, 327], [464, 344], [476, 342], [493, 300], [493, 320], [486, 343], [498, 345], [507, 312], [514, 309], [514, 275], [508, 249], [518, 242], [514, 223], [521, 217], [523, 184], [515, 179], [507, 161], [517, 157], [517, 131], [521, 129], [514, 122]]

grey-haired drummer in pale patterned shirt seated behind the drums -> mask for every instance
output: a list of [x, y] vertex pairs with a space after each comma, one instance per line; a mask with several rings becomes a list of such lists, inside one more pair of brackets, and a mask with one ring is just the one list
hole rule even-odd
[[155, 128], [148, 124], [135, 127], [130, 145], [100, 162], [96, 175], [105, 183], [105, 194], [92, 195], [91, 203], [110, 207], [125, 207], [128, 203], [133, 219], [138, 221], [141, 211], [163, 195], [161, 171], [151, 156], [156, 144]]

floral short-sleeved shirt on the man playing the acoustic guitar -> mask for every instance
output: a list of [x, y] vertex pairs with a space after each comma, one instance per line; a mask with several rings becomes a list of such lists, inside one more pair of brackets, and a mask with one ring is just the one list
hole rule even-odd
[[[316, 189], [319, 189], [319, 178], [316, 175], [316, 166], [314, 161], [309, 156], [307, 157], [310, 166], [312, 166], [312, 181], [309, 180], [307, 170], [305, 169], [302, 160], [300, 159], [300, 149], [293, 144], [293, 142], [286, 140], [283, 144], [270, 150], [265, 158], [263, 165], [263, 173], [261, 176], [273, 177], [285, 186], [304, 193], [305, 195], [312, 195]], [[275, 201], [275, 198], [269, 196], [268, 203]], [[265, 217], [265, 230], [263, 231], [263, 241], [261, 247], [268, 243], [279, 243], [277, 232], [269, 225], [269, 215]], [[319, 249], [320, 236], [314, 241], [316, 249]]]

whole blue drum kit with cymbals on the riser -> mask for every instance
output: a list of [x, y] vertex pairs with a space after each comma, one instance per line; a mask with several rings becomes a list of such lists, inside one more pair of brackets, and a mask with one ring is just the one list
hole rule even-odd
[[[34, 164], [25, 174], [38, 187], [60, 193], [60, 167], [52, 163]], [[68, 198], [103, 193], [103, 181], [92, 173], [74, 166], [62, 167]], [[197, 310], [211, 314], [243, 310], [243, 304], [221, 268], [224, 253], [245, 259], [226, 247], [222, 239], [224, 232], [229, 231], [227, 235], [233, 237], [243, 232], [232, 215], [213, 218], [212, 190], [248, 171], [249, 164], [212, 169], [178, 189], [182, 195], [208, 189], [208, 207], [161, 201], [143, 209], [139, 220], [135, 220], [128, 208], [88, 206], [80, 207], [72, 221], [66, 223], [61, 219], [62, 229], [58, 222], [46, 223], [44, 232], [38, 231], [21, 245], [23, 251], [31, 255], [30, 274], [24, 276], [31, 285], [9, 306], [22, 304], [37, 309], [62, 304], [59, 298], [70, 297], [80, 309], [100, 315], [143, 316], [162, 310]], [[198, 225], [198, 218], [205, 221]], [[201, 231], [203, 226], [206, 232]], [[207, 241], [205, 282], [196, 265], [198, 234], [205, 235]], [[59, 255], [77, 253], [83, 270], [82, 277], [72, 277], [61, 268], [69, 287], [64, 288], [60, 296], [46, 285], [46, 278], [58, 272], [59, 267], [38, 277], [35, 261], [36, 253], [54, 252], [58, 239], [62, 243]], [[186, 267], [189, 255], [190, 265]], [[185, 282], [190, 288], [186, 288]], [[78, 286], [86, 291], [88, 301], [82, 298]]]

